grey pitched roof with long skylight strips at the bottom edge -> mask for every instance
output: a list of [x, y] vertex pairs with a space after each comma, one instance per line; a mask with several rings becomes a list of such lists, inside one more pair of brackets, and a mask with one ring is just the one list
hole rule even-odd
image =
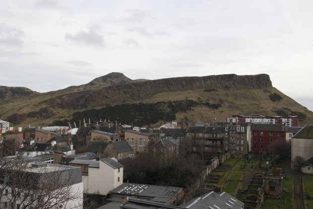
[[213, 191], [182, 205], [188, 209], [241, 209], [243, 206], [244, 203], [233, 196], [225, 192], [219, 195]]

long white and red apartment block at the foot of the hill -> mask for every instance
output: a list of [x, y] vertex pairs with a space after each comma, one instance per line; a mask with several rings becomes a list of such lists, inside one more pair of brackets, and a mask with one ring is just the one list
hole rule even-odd
[[285, 126], [297, 127], [298, 126], [298, 116], [232, 115], [232, 117], [226, 118], [226, 122], [285, 124]]

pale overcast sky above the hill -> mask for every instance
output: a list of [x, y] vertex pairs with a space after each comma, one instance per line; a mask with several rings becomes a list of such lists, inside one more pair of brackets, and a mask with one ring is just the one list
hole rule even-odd
[[268, 74], [313, 110], [313, 0], [0, 0], [0, 86]]

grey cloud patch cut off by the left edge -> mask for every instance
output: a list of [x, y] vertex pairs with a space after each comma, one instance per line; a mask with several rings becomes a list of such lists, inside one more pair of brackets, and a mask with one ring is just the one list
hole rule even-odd
[[21, 47], [23, 45], [23, 36], [24, 32], [22, 30], [0, 24], [0, 46]]

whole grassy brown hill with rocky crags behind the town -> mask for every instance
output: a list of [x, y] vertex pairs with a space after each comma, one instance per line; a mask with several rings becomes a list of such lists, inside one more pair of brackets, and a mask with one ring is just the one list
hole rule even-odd
[[42, 94], [26, 88], [13, 94], [6, 88], [0, 118], [15, 126], [78, 124], [88, 118], [151, 127], [171, 120], [182, 125], [213, 124], [234, 114], [298, 115], [300, 125], [313, 122], [313, 112], [274, 88], [266, 74], [136, 81], [111, 73], [88, 84]]

